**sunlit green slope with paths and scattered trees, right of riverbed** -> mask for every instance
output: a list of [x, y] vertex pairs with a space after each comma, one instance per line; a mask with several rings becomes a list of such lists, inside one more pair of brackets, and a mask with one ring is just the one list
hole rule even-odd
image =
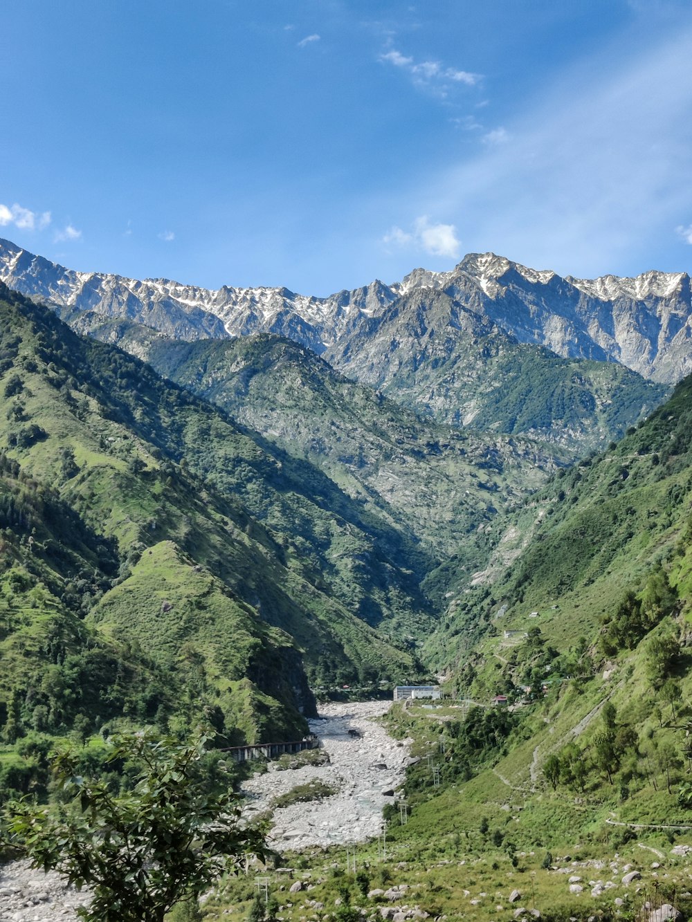
[[[411, 872], [436, 861], [457, 890], [535, 887], [555, 919], [626, 917], [659, 886], [671, 900], [687, 891], [671, 846], [692, 827], [691, 462], [688, 378], [620, 443], [532, 497], [507, 528], [514, 561], [459, 594], [429, 652], [465, 701], [392, 715], [421, 756], [408, 822], [397, 814], [388, 830]], [[570, 891], [563, 873], [575, 867], [594, 880]], [[646, 897], [621, 883], [633, 868]], [[450, 912], [494, 916], [480, 898], [453, 905], [450, 880]]]

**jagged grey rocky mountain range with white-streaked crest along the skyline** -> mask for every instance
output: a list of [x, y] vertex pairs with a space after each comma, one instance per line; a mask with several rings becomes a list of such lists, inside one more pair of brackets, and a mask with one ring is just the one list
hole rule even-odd
[[495, 254], [469, 254], [449, 272], [414, 269], [391, 285], [376, 280], [317, 298], [285, 288], [207, 290], [77, 272], [0, 240], [0, 280], [64, 312], [126, 317], [177, 338], [276, 333], [334, 356], [354, 334], [372, 333], [401, 298], [435, 291], [519, 343], [563, 358], [615, 361], [664, 384], [692, 371], [692, 296], [684, 272], [561, 278]]

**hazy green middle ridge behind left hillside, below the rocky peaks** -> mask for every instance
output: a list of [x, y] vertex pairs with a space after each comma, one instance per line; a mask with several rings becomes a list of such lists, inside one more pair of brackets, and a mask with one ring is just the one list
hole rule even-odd
[[70, 322], [320, 467], [436, 554], [470, 544], [498, 506], [536, 489], [555, 458], [567, 457], [525, 438], [438, 426], [281, 337], [186, 343], [96, 314], [77, 313]]

